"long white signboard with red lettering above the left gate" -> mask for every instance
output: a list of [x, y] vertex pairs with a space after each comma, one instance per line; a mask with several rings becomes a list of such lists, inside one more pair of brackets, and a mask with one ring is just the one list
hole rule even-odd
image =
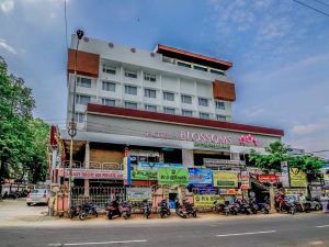
[[[65, 177], [69, 177], [69, 169], [65, 169]], [[64, 176], [64, 168], [58, 169], [58, 176]], [[122, 170], [72, 169], [72, 177], [80, 179], [115, 179], [123, 180]]]

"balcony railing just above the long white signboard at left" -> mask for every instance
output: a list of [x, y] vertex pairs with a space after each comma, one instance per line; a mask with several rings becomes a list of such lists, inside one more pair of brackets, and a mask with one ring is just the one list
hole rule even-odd
[[[65, 160], [65, 162], [63, 162], [60, 167], [69, 168], [70, 167], [70, 161]], [[90, 161], [89, 164], [86, 164], [86, 162], [81, 162], [81, 161], [78, 161], [78, 160], [73, 160], [72, 161], [72, 168], [76, 168], [76, 169], [98, 169], [98, 170], [123, 170], [123, 165], [118, 164], [118, 162], [99, 162], [99, 161]]]

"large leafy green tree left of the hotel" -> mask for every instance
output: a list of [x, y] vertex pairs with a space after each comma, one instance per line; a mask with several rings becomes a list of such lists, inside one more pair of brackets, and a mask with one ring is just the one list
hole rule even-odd
[[32, 90], [8, 74], [0, 57], [0, 182], [25, 175], [34, 181], [45, 178], [48, 125], [33, 119], [34, 108]]

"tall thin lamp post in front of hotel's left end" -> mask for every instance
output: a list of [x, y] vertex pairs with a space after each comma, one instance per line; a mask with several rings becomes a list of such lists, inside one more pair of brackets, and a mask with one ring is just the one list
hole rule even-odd
[[72, 116], [71, 122], [68, 126], [68, 134], [71, 137], [70, 139], [70, 165], [69, 165], [69, 193], [68, 193], [68, 210], [71, 206], [71, 188], [72, 188], [72, 164], [73, 164], [73, 138], [77, 135], [77, 123], [76, 123], [76, 90], [77, 90], [77, 60], [78, 60], [78, 48], [81, 38], [83, 37], [83, 31], [77, 30], [77, 48], [75, 54], [75, 82], [73, 82], [73, 100], [72, 100]]

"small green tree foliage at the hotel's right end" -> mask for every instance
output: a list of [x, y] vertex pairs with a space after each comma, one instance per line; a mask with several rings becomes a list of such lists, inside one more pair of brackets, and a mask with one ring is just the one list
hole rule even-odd
[[263, 170], [281, 171], [281, 162], [287, 161], [290, 167], [299, 168], [306, 172], [319, 171], [325, 161], [314, 155], [290, 156], [288, 147], [280, 142], [274, 142], [265, 147], [266, 155], [251, 150], [249, 160]]

